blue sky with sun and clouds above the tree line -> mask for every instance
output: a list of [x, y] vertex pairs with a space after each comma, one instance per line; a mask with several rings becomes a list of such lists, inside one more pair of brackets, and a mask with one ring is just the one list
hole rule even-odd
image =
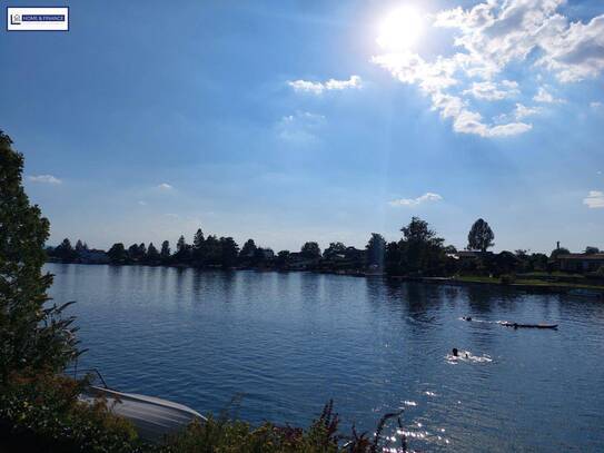
[[363, 247], [418, 216], [459, 248], [479, 217], [496, 250], [604, 248], [601, 0], [69, 6], [0, 36], [51, 245]]

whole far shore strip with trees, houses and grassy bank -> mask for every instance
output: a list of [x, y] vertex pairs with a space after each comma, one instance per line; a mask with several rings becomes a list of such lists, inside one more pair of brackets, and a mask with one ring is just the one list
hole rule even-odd
[[316, 242], [303, 244], [299, 252], [258, 247], [248, 239], [242, 247], [232, 237], [205, 237], [198, 229], [188, 244], [180, 236], [176, 249], [165, 240], [158, 249], [152, 243], [118, 243], [105, 253], [89, 249], [78, 239], [76, 246], [66, 238], [59, 246], [47, 248], [51, 260], [62, 263], [105, 263], [112, 265], [149, 265], [194, 268], [311, 270], [347, 275], [384, 275], [390, 277], [445, 277], [457, 282], [498, 284], [521, 283], [538, 286], [603, 286], [604, 254], [587, 246], [583, 254], [571, 254], [560, 245], [549, 255], [517, 249], [493, 253], [495, 234], [479, 218], [471, 227], [467, 247], [457, 250], [423, 219], [412, 217], [400, 228], [399, 240], [387, 243], [372, 233], [365, 248], [330, 243], [321, 252]]

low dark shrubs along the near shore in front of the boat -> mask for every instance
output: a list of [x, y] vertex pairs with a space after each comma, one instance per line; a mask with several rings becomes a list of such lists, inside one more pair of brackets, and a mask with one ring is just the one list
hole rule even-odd
[[[194, 422], [161, 444], [141, 442], [133, 426], [112, 415], [102, 400], [93, 404], [78, 401], [87, 380], [73, 381], [53, 374], [11, 375], [0, 392], [0, 450], [93, 453], [375, 453], [390, 446], [383, 436], [388, 418], [379, 421], [374, 436], [339, 431], [333, 402], [307, 429], [265, 422], [254, 427], [241, 421], [209, 415]], [[398, 418], [399, 429], [403, 427]], [[9, 441], [6, 441], [6, 440]], [[402, 439], [403, 451], [406, 440]]]

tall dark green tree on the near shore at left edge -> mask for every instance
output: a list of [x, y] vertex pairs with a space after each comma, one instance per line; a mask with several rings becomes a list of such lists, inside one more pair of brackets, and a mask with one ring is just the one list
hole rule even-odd
[[49, 221], [22, 186], [23, 156], [0, 131], [0, 378], [24, 370], [60, 371], [77, 352], [72, 317], [48, 306], [52, 276], [42, 273]]

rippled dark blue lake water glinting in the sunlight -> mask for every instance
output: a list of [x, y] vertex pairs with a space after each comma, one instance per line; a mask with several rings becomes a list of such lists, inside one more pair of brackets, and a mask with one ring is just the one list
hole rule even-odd
[[126, 392], [202, 413], [236, 397], [230, 413], [251, 423], [304, 425], [334, 398], [359, 432], [405, 408], [423, 451], [604, 451], [604, 303], [308, 273], [47, 269], [56, 301], [78, 302], [80, 366]]

